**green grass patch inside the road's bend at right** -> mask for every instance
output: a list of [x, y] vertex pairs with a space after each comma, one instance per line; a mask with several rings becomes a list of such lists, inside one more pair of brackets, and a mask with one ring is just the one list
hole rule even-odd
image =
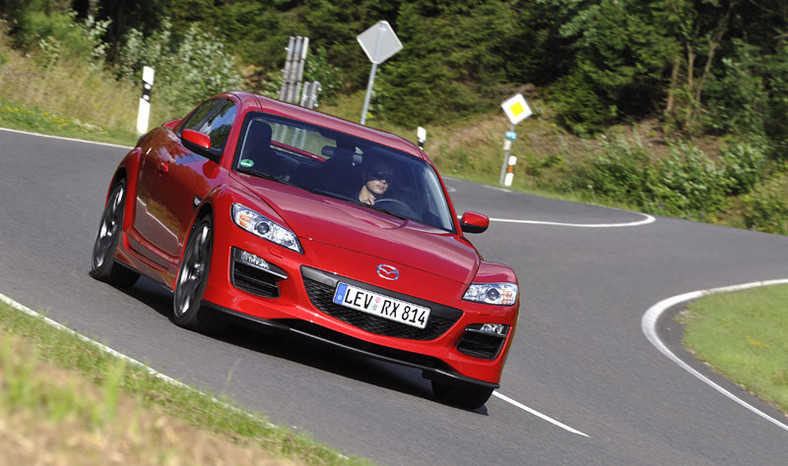
[[690, 303], [684, 344], [731, 381], [788, 414], [788, 285]]

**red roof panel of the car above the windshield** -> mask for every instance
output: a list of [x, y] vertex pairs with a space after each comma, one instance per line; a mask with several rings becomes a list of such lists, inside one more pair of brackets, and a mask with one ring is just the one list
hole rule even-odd
[[259, 94], [240, 91], [228, 92], [227, 94], [233, 95], [241, 101], [241, 107], [244, 113], [247, 111], [262, 110], [268, 113], [290, 117], [303, 122], [314, 123], [324, 128], [357, 136], [377, 144], [391, 147], [392, 149], [400, 150], [415, 157], [428, 160], [426, 155], [418, 148], [418, 146], [406, 139], [391, 133], [387, 133], [385, 131], [369, 128], [367, 126], [353, 123], [352, 121], [328, 115], [317, 110], [299, 107], [298, 105], [282, 102], [280, 100], [272, 99]]

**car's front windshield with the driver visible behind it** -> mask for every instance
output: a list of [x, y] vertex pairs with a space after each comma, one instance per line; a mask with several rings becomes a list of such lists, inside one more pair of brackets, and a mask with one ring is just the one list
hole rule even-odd
[[435, 170], [365, 139], [274, 115], [248, 118], [236, 168], [453, 231]]

